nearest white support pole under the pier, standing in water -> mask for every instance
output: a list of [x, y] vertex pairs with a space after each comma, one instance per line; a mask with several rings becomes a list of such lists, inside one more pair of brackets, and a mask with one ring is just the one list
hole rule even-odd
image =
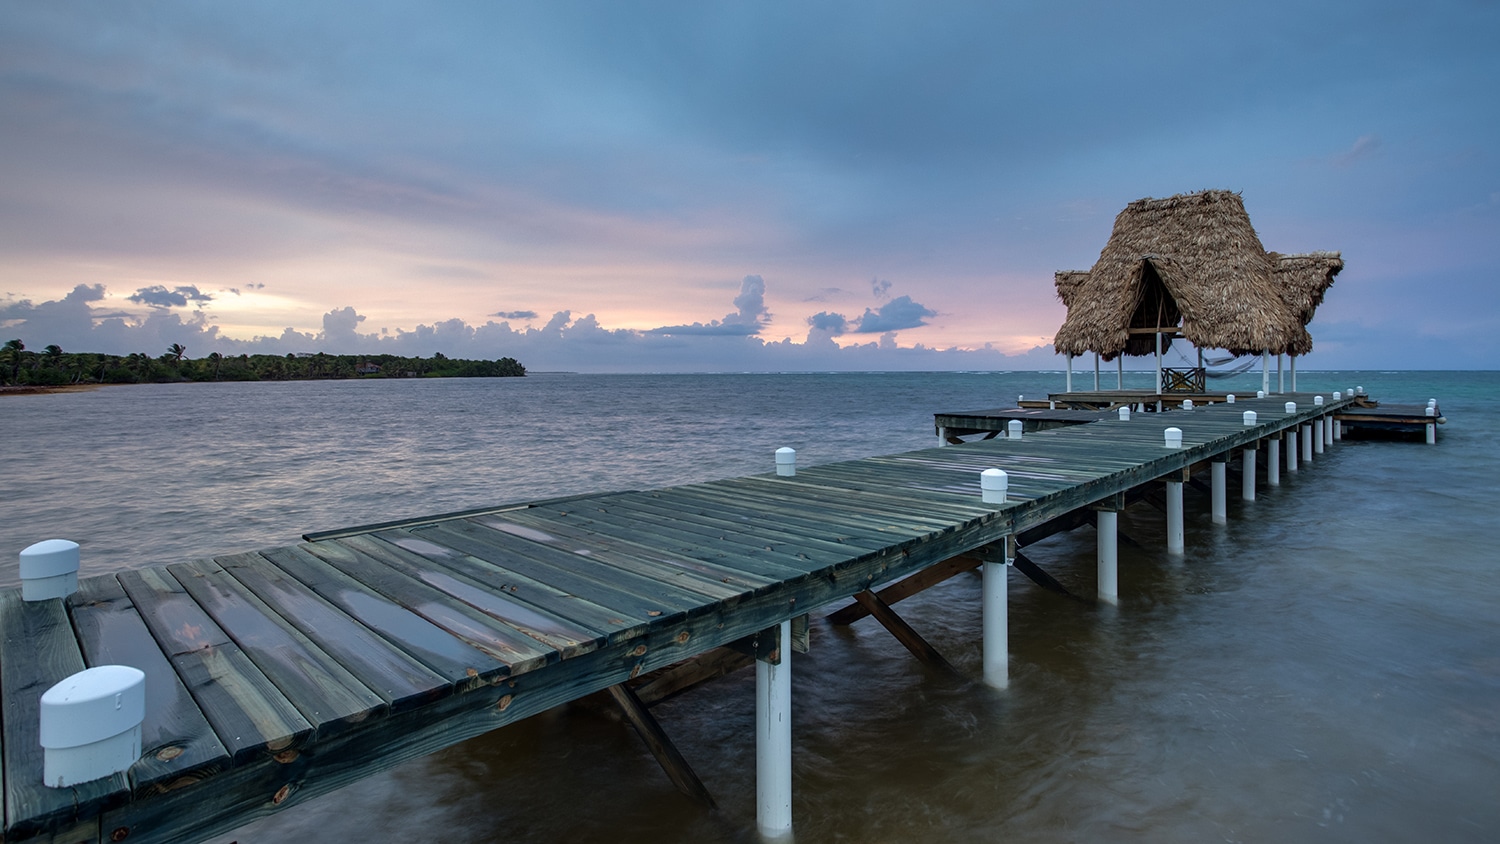
[[754, 663], [756, 826], [765, 841], [792, 840], [792, 622], [780, 627], [780, 664]]

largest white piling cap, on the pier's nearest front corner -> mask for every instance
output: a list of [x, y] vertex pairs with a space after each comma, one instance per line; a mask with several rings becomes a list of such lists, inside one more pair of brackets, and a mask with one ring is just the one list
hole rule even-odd
[[146, 673], [98, 666], [42, 693], [42, 783], [66, 789], [129, 769], [141, 759]]

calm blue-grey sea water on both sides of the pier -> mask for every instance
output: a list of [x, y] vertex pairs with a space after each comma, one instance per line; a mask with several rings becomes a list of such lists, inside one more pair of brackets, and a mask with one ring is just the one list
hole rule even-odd
[[[1146, 384], [1128, 375], [1126, 385]], [[1080, 376], [1092, 382], [1092, 373]], [[1113, 384], [1113, 373], [1104, 378]], [[1254, 393], [1258, 373], [1227, 388]], [[1437, 397], [1437, 447], [1344, 441], [1188, 553], [1120, 519], [1120, 606], [1012, 574], [1011, 688], [952, 684], [882, 628], [814, 625], [794, 669], [794, 816], [820, 841], [1500, 840], [1500, 373], [1302, 373]], [[182, 384], [0, 397], [0, 585], [15, 553], [84, 571], [302, 532], [924, 448], [932, 414], [1060, 390], [1047, 373], [536, 375]], [[1094, 589], [1089, 529], [1034, 546]], [[9, 562], [4, 562], [4, 561]], [[902, 613], [980, 675], [978, 579]], [[556, 709], [218, 841], [754, 841], [753, 672], [656, 709], [699, 810], [608, 709]]]

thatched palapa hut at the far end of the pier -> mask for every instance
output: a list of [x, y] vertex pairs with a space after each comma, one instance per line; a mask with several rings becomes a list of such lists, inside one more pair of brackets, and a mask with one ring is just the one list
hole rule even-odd
[[1280, 367], [1280, 355], [1312, 351], [1306, 324], [1342, 268], [1338, 252], [1266, 252], [1239, 193], [1137, 199], [1114, 217], [1094, 268], [1056, 274], [1068, 318], [1053, 348], [1068, 355], [1070, 391], [1072, 357], [1095, 352], [1102, 360], [1155, 354], [1161, 393], [1164, 334], [1198, 348], [1200, 379], [1202, 349], [1262, 355], [1269, 391], [1269, 355]]

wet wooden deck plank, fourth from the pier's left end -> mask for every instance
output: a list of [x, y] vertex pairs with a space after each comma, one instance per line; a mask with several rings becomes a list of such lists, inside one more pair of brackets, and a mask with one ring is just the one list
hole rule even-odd
[[166, 567], [322, 738], [386, 714], [387, 705], [213, 561]]

